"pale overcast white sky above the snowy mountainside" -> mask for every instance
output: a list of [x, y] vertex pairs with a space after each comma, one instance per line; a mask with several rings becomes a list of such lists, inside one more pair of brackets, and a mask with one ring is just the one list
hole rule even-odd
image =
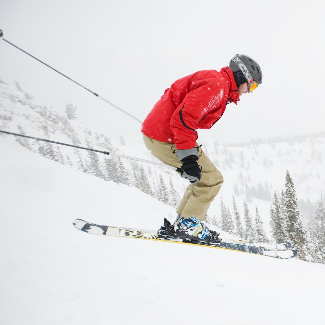
[[[324, 13], [322, 0], [3, 0], [0, 29], [140, 120], [176, 79], [251, 56], [263, 84], [199, 131], [222, 143], [324, 130]], [[141, 136], [138, 122], [3, 40], [0, 78], [60, 113], [71, 102], [108, 137]]]

